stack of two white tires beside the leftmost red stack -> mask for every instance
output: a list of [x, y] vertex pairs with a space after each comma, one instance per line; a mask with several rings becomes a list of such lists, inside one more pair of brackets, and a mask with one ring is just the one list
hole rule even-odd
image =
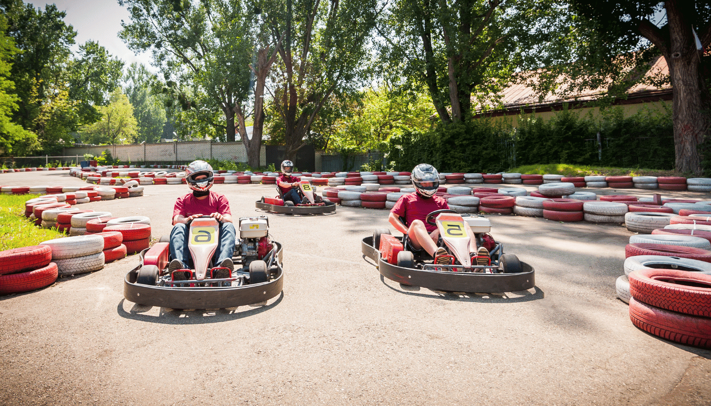
[[52, 249], [52, 261], [60, 277], [94, 272], [104, 267], [104, 239], [96, 235], [77, 235], [41, 242]]

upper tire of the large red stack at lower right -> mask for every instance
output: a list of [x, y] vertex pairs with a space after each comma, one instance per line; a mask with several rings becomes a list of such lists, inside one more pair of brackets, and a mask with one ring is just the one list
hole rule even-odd
[[632, 296], [642, 303], [691, 316], [711, 317], [711, 275], [675, 269], [629, 274]]

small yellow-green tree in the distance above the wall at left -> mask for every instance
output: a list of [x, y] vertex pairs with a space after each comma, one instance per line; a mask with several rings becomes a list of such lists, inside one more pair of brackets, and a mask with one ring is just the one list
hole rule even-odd
[[[83, 141], [90, 144], [130, 144], [136, 137], [136, 117], [129, 99], [117, 88], [109, 97], [109, 105], [99, 106], [102, 115], [94, 124], [82, 129]], [[118, 142], [117, 142], [118, 141]]]

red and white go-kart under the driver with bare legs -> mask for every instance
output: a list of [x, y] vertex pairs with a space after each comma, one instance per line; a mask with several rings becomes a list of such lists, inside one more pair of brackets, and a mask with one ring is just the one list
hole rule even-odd
[[[387, 228], [375, 230], [360, 245], [363, 255], [377, 263], [387, 279], [401, 284], [448, 292], [517, 292], [535, 285], [534, 269], [513, 254], [504, 254], [501, 242], [491, 237], [491, 220], [477, 215], [460, 215], [454, 210], [436, 210], [425, 221], [437, 225], [438, 246], [447, 250], [450, 265], [438, 265], [424, 250], [410, 249], [407, 235], [395, 237]], [[486, 247], [489, 258], [469, 252], [469, 235], [464, 222], [476, 237], [477, 247]], [[479, 260], [479, 261], [477, 261]], [[444, 262], [444, 261], [442, 261]], [[476, 265], [486, 262], [486, 265]]]

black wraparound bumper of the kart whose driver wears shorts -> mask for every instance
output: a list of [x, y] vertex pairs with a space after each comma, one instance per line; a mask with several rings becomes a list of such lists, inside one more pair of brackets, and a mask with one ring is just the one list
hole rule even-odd
[[383, 261], [380, 252], [373, 247], [373, 237], [363, 238], [360, 251], [377, 263], [381, 275], [401, 284], [447, 292], [470, 293], [518, 292], [535, 286], [535, 270], [525, 262], [521, 262], [525, 272], [518, 274], [442, 272], [403, 268]]

